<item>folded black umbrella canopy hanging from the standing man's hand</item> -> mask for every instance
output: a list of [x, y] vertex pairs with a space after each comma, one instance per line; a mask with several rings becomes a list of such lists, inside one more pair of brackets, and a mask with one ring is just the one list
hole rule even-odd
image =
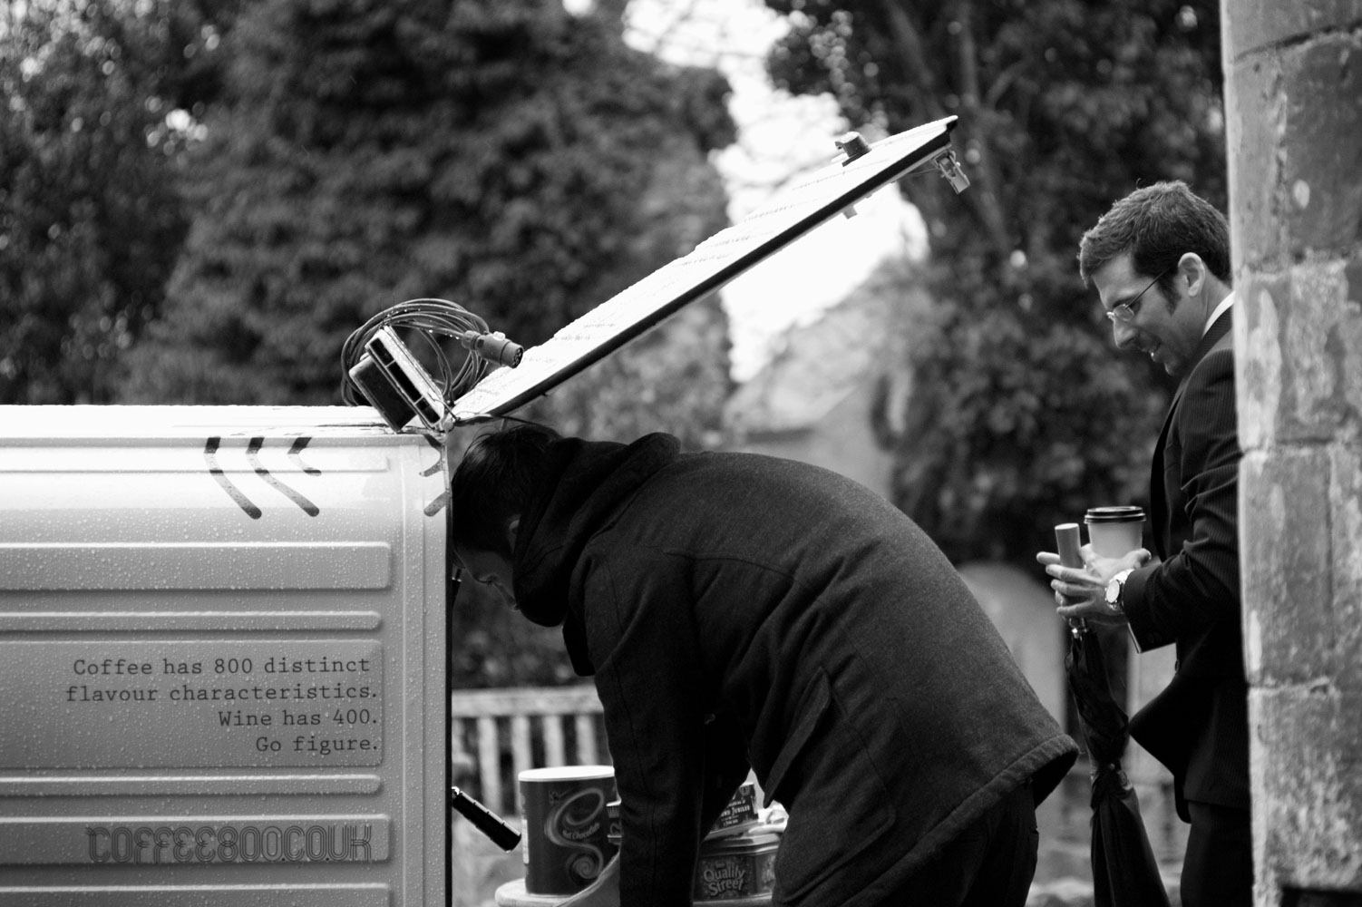
[[1092, 904], [1169, 907], [1140, 801], [1121, 768], [1126, 715], [1111, 696], [1098, 637], [1086, 626], [1071, 633], [1064, 667], [1092, 760]]

